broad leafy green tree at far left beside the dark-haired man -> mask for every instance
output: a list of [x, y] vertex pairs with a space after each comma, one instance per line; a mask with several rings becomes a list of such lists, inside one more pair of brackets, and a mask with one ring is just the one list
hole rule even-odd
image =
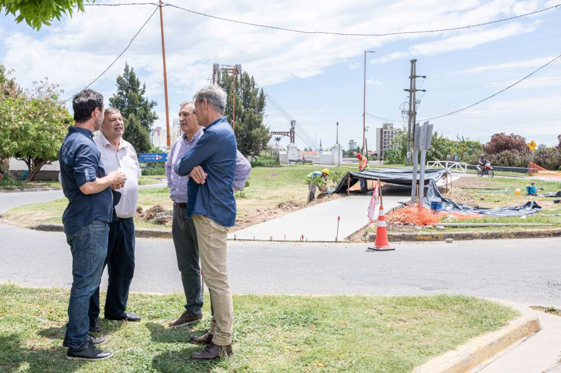
[[57, 160], [66, 127], [73, 123], [62, 90], [47, 78], [34, 83], [33, 94], [0, 101], [0, 149], [4, 157], [24, 161], [33, 181], [41, 167]]

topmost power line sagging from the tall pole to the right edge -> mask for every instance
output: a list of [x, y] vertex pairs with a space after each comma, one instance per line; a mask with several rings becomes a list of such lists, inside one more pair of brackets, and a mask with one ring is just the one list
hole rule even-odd
[[254, 24], [254, 23], [251, 23], [251, 22], [237, 21], [237, 20], [232, 20], [230, 18], [213, 16], [213, 15], [209, 15], [209, 14], [206, 14], [206, 13], [201, 13], [201, 12], [197, 12], [197, 11], [194, 11], [194, 10], [190, 10], [190, 9], [187, 9], [187, 8], [182, 8], [182, 7], [174, 5], [174, 4], [169, 4], [169, 3], [162, 3], [162, 4], [164, 4], [165, 6], [171, 6], [173, 8], [177, 8], [177, 9], [180, 9], [180, 10], [183, 10], [183, 11], [186, 11], [186, 12], [194, 13], [194, 14], [199, 15], [199, 16], [214, 18], [216, 20], [222, 20], [222, 21], [227, 21], [227, 22], [233, 22], [233, 23], [236, 23], [236, 24], [256, 26], [256, 27], [264, 27], [265, 29], [273, 29], [273, 30], [280, 30], [280, 31], [298, 32], [300, 34], [324, 34], [324, 35], [342, 35], [342, 36], [390, 36], [390, 35], [403, 35], [403, 34], [426, 34], [426, 33], [429, 33], [429, 32], [442, 32], [442, 31], [470, 29], [471, 27], [491, 25], [491, 24], [496, 24], [498, 22], [510, 21], [510, 20], [514, 20], [514, 19], [520, 18], [520, 17], [535, 15], [537, 13], [541, 13], [541, 12], [545, 12], [545, 11], [557, 8], [558, 6], [561, 5], [561, 4], [557, 4], [557, 5], [554, 5], [554, 6], [551, 6], [551, 7], [548, 7], [548, 8], [544, 8], [544, 9], [541, 9], [541, 10], [538, 10], [538, 11], [535, 11], [535, 12], [525, 13], [525, 14], [521, 14], [521, 15], [518, 15], [518, 16], [509, 17], [509, 18], [503, 18], [501, 20], [490, 21], [490, 22], [485, 22], [485, 23], [476, 24], [476, 25], [451, 27], [449, 29], [423, 30], [423, 31], [398, 31], [398, 32], [387, 32], [385, 34], [350, 34], [350, 33], [346, 33], [346, 32], [304, 31], [304, 30], [288, 29], [286, 27], [260, 25], [260, 24]]

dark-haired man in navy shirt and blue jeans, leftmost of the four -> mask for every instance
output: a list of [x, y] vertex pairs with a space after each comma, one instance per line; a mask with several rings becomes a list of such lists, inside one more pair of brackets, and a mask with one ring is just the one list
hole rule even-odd
[[72, 288], [68, 302], [68, 324], [62, 343], [71, 360], [98, 361], [113, 355], [95, 344], [105, 338], [89, 334], [88, 309], [99, 286], [107, 254], [109, 222], [113, 220], [112, 189], [125, 183], [121, 171], [106, 175], [93, 132], [103, 123], [103, 96], [84, 90], [73, 97], [74, 125], [58, 152], [62, 190], [68, 206], [62, 214], [66, 241], [72, 253]]

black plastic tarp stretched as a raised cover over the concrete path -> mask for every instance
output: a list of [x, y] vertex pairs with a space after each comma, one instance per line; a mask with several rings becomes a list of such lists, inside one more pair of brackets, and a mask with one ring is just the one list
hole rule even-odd
[[[425, 185], [429, 184], [430, 180], [438, 181], [444, 177], [448, 172], [447, 169], [425, 169]], [[362, 172], [347, 172], [343, 179], [337, 184], [335, 193], [346, 192], [349, 186], [355, 185], [358, 180], [378, 180], [384, 183], [398, 184], [398, 185], [411, 185], [413, 182], [412, 169], [381, 169], [381, 170], [368, 170]], [[417, 176], [417, 184], [419, 184], [419, 177]]]

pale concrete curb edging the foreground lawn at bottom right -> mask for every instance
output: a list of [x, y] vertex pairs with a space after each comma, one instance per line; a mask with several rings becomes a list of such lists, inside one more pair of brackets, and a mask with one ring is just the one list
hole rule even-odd
[[427, 361], [414, 373], [460, 373], [470, 371], [482, 363], [489, 362], [497, 353], [522, 342], [539, 332], [538, 313], [529, 307], [503, 300], [493, 300], [517, 309], [522, 316], [496, 332], [486, 333], [470, 339], [452, 351]]

